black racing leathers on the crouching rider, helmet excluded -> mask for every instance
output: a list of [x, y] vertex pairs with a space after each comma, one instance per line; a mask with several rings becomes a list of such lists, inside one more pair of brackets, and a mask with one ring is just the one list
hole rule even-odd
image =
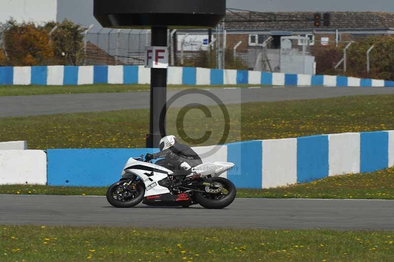
[[191, 167], [202, 164], [201, 158], [191, 147], [180, 143], [175, 143], [170, 148], [153, 154], [152, 157], [153, 159], [164, 158], [156, 164], [170, 170], [189, 170]]

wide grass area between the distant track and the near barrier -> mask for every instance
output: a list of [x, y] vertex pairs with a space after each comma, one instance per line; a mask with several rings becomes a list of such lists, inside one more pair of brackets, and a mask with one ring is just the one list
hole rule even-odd
[[[226, 107], [230, 114], [226, 142], [394, 130], [394, 95], [258, 102]], [[225, 126], [219, 106], [209, 109], [211, 118], [192, 109], [183, 122], [189, 137], [202, 137], [206, 130], [212, 131], [212, 136], [201, 145], [217, 144]], [[178, 134], [178, 113], [179, 108], [169, 109], [167, 133]], [[149, 109], [7, 117], [0, 121], [0, 141], [26, 140], [30, 149], [43, 150], [138, 148], [145, 147], [148, 130]]]

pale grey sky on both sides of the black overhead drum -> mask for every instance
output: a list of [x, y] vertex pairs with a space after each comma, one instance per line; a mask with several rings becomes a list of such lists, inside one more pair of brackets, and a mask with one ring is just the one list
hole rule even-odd
[[[164, 1], [164, 0], [163, 0]], [[93, 0], [58, 0], [58, 21], [65, 17], [88, 27], [99, 23], [93, 17]], [[386, 11], [394, 12], [394, 0], [227, 0], [228, 8], [261, 12], [286, 11]]]

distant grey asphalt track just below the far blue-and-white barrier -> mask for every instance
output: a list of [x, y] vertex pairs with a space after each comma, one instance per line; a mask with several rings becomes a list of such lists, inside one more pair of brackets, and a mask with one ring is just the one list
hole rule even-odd
[[[205, 89], [206, 90], [206, 89]], [[168, 91], [171, 98], [179, 91]], [[263, 87], [263, 88], [217, 88], [209, 92], [224, 104], [281, 101], [312, 98], [333, 98], [354, 95], [394, 94], [392, 87]], [[173, 106], [200, 102], [216, 104], [206, 96], [193, 94], [177, 100]], [[149, 92], [41, 95], [0, 97], [0, 117], [36, 116], [62, 113], [110, 111], [149, 108]]]

